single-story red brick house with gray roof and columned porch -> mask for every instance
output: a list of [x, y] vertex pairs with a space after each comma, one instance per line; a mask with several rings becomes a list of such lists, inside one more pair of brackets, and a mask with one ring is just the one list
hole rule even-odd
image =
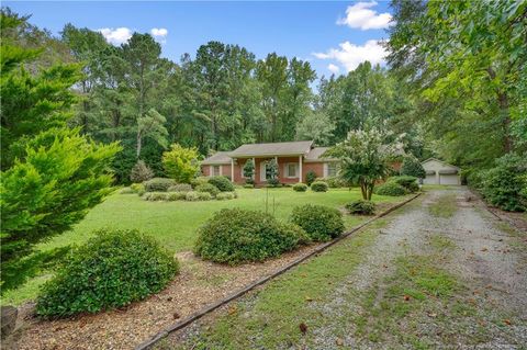
[[309, 171], [318, 178], [334, 177], [337, 173], [337, 160], [325, 158], [328, 147], [314, 147], [312, 140], [246, 144], [232, 151], [217, 151], [201, 162], [205, 177], [226, 176], [235, 183], [245, 183], [244, 166], [251, 159], [255, 162], [255, 184], [267, 182], [266, 167], [276, 159], [281, 183], [305, 182]]

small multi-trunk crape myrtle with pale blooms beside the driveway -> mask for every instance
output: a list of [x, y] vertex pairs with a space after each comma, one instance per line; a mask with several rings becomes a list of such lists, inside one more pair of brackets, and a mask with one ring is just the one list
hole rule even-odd
[[358, 183], [367, 201], [371, 200], [375, 182], [390, 173], [390, 160], [402, 148], [399, 142], [386, 144], [389, 136], [375, 127], [351, 131], [343, 143], [325, 154], [340, 160], [338, 176]]

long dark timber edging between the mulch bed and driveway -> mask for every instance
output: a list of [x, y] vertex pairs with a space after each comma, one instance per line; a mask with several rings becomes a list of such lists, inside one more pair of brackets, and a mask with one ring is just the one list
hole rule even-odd
[[397, 208], [400, 208], [401, 206], [410, 203], [411, 201], [415, 200], [416, 197], [418, 197], [421, 194], [423, 194], [423, 192], [419, 192], [413, 196], [411, 196], [410, 199], [406, 199], [404, 200], [403, 202], [401, 203], [397, 203], [391, 207], [389, 207], [388, 210], [385, 210], [384, 212], [382, 212], [381, 214], [378, 214], [375, 216], [373, 216], [372, 218], [369, 218], [367, 219], [366, 222], [363, 222], [362, 224], [359, 224], [355, 227], [352, 227], [351, 229], [347, 230], [346, 233], [344, 233], [343, 235], [340, 235], [339, 237], [328, 241], [328, 242], [325, 242], [323, 244], [322, 246], [317, 247], [315, 250], [311, 251], [310, 253], [303, 256], [303, 257], [300, 257], [298, 258], [296, 260], [290, 262], [289, 264], [282, 267], [281, 269], [279, 269], [278, 271], [274, 271], [273, 273], [267, 275], [267, 276], [264, 276], [248, 285], [246, 285], [245, 287], [232, 293], [231, 295], [224, 297], [223, 300], [220, 300], [209, 306], [205, 306], [203, 307], [202, 309], [191, 314], [190, 316], [183, 318], [182, 320], [180, 321], [177, 321], [176, 324], [169, 326], [169, 327], [166, 327], [164, 328], [162, 330], [158, 331], [156, 335], [154, 335], [152, 338], [145, 340], [144, 342], [142, 342], [141, 345], [138, 345], [135, 350], [147, 350], [147, 349], [150, 349], [154, 345], [156, 345], [158, 341], [160, 341], [161, 339], [166, 338], [168, 335], [170, 335], [171, 332], [173, 331], [177, 331], [177, 330], [180, 330], [187, 326], [189, 326], [190, 324], [197, 321], [198, 319], [200, 319], [201, 317], [214, 312], [215, 309], [222, 307], [223, 305], [243, 296], [244, 294], [250, 292], [251, 290], [254, 290], [255, 287], [259, 286], [259, 285], [262, 285], [265, 284], [266, 282], [281, 275], [282, 273], [287, 272], [288, 270], [294, 268], [295, 266], [302, 263], [303, 261], [310, 259], [311, 257], [315, 256], [315, 255], [318, 255], [321, 253], [322, 251], [326, 250], [327, 248], [329, 248], [330, 246], [337, 244], [338, 241], [349, 237], [351, 234], [358, 232], [359, 229], [363, 228], [365, 226], [375, 222], [377, 219], [396, 211]]

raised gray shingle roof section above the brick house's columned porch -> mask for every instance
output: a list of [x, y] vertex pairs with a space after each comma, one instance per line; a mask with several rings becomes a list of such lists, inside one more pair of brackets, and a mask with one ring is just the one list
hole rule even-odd
[[305, 155], [311, 150], [312, 140], [272, 144], [247, 144], [242, 145], [228, 153], [231, 157], [262, 157], [262, 156], [294, 156]]

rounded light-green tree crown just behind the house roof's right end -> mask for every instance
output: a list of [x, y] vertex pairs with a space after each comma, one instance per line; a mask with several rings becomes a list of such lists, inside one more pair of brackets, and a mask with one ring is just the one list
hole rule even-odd
[[296, 139], [312, 139], [316, 145], [329, 145], [335, 124], [327, 114], [311, 112], [296, 125]]

